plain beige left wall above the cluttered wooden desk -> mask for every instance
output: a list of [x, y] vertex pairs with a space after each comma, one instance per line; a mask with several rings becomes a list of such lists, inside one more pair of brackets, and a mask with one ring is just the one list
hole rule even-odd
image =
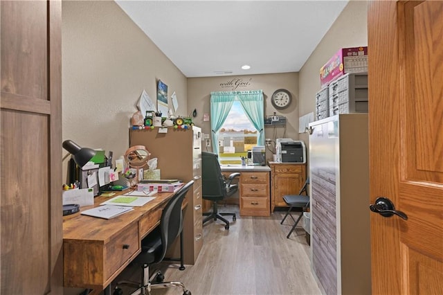
[[155, 99], [159, 79], [185, 114], [186, 77], [114, 1], [62, 2], [63, 140], [124, 154], [138, 98]]

